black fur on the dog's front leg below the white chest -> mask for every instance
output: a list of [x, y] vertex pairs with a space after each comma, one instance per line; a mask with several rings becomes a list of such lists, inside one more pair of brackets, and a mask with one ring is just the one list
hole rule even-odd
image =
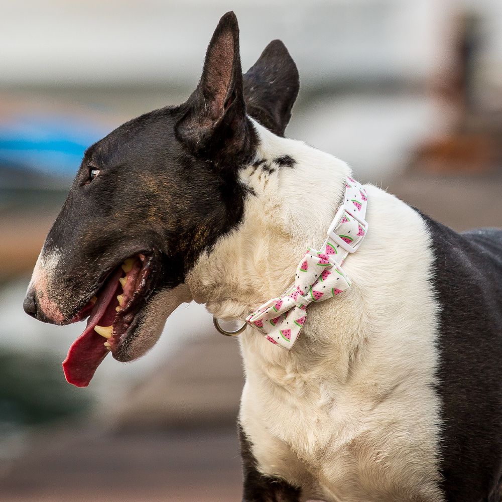
[[242, 502], [299, 502], [300, 488], [283, 479], [261, 474], [257, 469], [252, 444], [241, 426], [238, 433], [242, 458]]

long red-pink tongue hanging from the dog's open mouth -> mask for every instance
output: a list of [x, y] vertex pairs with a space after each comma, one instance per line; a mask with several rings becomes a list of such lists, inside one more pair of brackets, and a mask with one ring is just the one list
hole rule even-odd
[[117, 289], [120, 285], [118, 279], [122, 276], [119, 267], [106, 281], [104, 288], [99, 293], [99, 298], [94, 305], [84, 332], [72, 343], [68, 355], [63, 361], [63, 371], [66, 381], [77, 387], [87, 387], [94, 372], [105, 358], [109, 350], [103, 345], [106, 341], [94, 331], [94, 326], [109, 326], [115, 318]]

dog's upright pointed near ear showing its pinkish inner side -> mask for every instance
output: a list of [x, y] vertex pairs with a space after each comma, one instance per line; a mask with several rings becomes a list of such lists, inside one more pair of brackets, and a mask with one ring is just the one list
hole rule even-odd
[[195, 155], [214, 164], [245, 154], [248, 120], [242, 89], [239, 27], [233, 12], [219, 21], [209, 42], [197, 88], [185, 103], [176, 136]]

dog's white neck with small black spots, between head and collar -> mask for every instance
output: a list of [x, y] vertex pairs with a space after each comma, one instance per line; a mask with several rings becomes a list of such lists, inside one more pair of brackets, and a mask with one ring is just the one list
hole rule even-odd
[[186, 280], [193, 299], [223, 319], [244, 319], [293, 283], [305, 249], [324, 240], [350, 175], [339, 159], [254, 125], [260, 145], [241, 169], [250, 192], [242, 221]]

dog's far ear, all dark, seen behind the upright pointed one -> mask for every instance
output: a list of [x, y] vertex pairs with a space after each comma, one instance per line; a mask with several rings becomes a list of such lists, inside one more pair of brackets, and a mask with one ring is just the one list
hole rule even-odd
[[273, 40], [244, 74], [247, 113], [278, 136], [291, 118], [300, 77], [293, 58], [280, 40]]

